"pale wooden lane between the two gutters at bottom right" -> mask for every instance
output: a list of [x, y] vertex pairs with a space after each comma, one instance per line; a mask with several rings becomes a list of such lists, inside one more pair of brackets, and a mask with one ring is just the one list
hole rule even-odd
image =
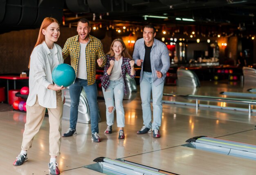
[[179, 175], [252, 175], [255, 161], [184, 146], [125, 158]]

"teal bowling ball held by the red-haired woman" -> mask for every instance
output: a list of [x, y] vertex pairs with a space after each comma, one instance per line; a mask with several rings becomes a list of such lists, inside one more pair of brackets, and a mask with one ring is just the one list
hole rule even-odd
[[68, 87], [74, 83], [76, 72], [71, 65], [59, 64], [52, 71], [52, 80], [58, 86]]

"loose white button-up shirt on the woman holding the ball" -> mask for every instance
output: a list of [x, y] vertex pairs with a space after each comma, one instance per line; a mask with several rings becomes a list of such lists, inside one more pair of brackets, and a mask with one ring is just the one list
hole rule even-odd
[[[54, 59], [57, 63], [63, 63], [62, 50], [57, 44], [54, 44]], [[45, 108], [56, 108], [56, 91], [47, 89], [52, 81], [52, 57], [51, 51], [47, 47], [45, 41], [36, 46], [30, 57], [29, 70], [29, 96], [27, 105], [33, 106], [36, 103], [36, 95], [38, 96], [39, 105]], [[62, 94], [63, 100], [63, 94]]]

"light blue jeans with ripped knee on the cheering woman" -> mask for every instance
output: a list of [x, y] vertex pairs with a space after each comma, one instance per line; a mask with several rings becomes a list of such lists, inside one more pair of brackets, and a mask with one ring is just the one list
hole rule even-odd
[[[107, 125], [112, 126], [114, 124], [114, 111], [117, 113], [117, 127], [124, 127], [124, 79], [111, 81], [108, 88], [105, 89], [102, 87], [105, 104], [106, 104], [106, 119]], [[115, 100], [114, 100], [115, 99]], [[109, 107], [114, 107], [112, 112], [108, 111]]]

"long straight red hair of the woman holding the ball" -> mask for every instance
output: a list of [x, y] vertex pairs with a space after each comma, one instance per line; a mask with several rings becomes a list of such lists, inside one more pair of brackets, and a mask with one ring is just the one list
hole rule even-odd
[[[42, 24], [41, 24], [41, 27], [40, 27], [40, 30], [39, 30], [38, 38], [37, 38], [37, 41], [36, 41], [36, 44], [35, 44], [34, 48], [35, 48], [36, 46], [38, 46], [38, 45], [40, 45], [40, 44], [43, 43], [43, 41], [45, 40], [45, 36], [43, 35], [43, 29], [46, 29], [46, 28], [47, 28], [49, 25], [51, 25], [53, 22], [57, 22], [57, 23], [58, 23], [58, 21], [57, 21], [55, 18], [46, 17], [46, 18], [43, 20], [43, 22], [42, 22]], [[60, 25], [60, 24], [58, 23], [58, 25]], [[30, 55], [30, 57], [31, 57], [31, 55]], [[29, 65], [28, 65], [28, 67], [30, 67], [30, 57], [29, 57]]]

